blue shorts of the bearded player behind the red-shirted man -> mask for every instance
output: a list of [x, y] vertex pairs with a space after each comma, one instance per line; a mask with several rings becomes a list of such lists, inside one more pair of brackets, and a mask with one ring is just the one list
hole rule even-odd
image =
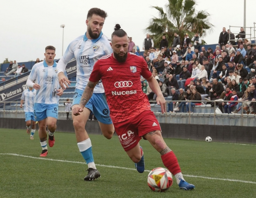
[[[83, 92], [84, 91], [80, 89], [75, 89], [73, 105], [79, 105]], [[112, 124], [105, 93], [93, 93], [92, 98], [88, 101], [85, 107], [93, 112], [99, 122], [106, 125]]]

